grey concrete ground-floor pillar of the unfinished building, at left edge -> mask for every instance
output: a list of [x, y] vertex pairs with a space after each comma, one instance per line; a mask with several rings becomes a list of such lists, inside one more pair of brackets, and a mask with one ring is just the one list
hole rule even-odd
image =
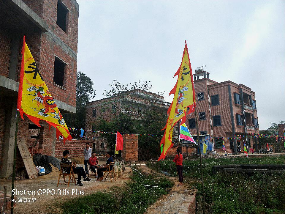
[[10, 177], [13, 172], [17, 100], [6, 97], [6, 106], [5, 133], [2, 147], [3, 166], [0, 174], [2, 178]]

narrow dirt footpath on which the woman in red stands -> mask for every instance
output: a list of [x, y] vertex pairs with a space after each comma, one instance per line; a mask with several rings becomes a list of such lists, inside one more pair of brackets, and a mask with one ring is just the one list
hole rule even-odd
[[[140, 165], [140, 168], [144, 172], [149, 174], [157, 173], [156, 171], [148, 168], [145, 165]], [[164, 174], [160, 174], [165, 176]], [[166, 176], [167, 177], [167, 176]], [[179, 184], [178, 177], [168, 177], [174, 182], [174, 187], [167, 194], [162, 196], [155, 204], [151, 205], [145, 212], [145, 214], [178, 214], [185, 201], [186, 197], [189, 195], [189, 189], [186, 185], [177, 186]]]

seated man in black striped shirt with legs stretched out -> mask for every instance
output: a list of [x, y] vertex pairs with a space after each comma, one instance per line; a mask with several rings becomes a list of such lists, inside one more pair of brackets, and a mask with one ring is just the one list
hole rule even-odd
[[[77, 178], [77, 184], [76, 185], [79, 185], [79, 186], [83, 185], [81, 183], [81, 176], [83, 176], [83, 178], [84, 178], [83, 181], [90, 181], [91, 179], [86, 176], [83, 167], [82, 166], [76, 167], [76, 165], [72, 161], [69, 161], [67, 159], [68, 155], [69, 155], [69, 151], [68, 150], [64, 150], [63, 151], [63, 158], [61, 158], [61, 162], [60, 163], [65, 163], [65, 164], [71, 165], [73, 167], [74, 174], [78, 173], [78, 178]], [[63, 170], [65, 172], [68, 172], [68, 171], [70, 171], [70, 167], [64, 167]]]

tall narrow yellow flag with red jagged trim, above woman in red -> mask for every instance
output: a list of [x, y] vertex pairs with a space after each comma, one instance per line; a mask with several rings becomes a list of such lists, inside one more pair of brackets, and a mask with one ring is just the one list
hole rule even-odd
[[[167, 111], [168, 118], [164, 128], [165, 132], [160, 142], [160, 145], [163, 144], [164, 147], [158, 160], [164, 159], [168, 150], [173, 146], [172, 132], [174, 126], [179, 120], [181, 120], [181, 124], [183, 124], [186, 121], [186, 115], [191, 114], [196, 105], [193, 74], [186, 41], [182, 62], [174, 77], [175, 76], [178, 76], [178, 78], [174, 88], [169, 93], [169, 95], [174, 94], [174, 97]], [[189, 111], [187, 111], [187, 107], [189, 108]]]

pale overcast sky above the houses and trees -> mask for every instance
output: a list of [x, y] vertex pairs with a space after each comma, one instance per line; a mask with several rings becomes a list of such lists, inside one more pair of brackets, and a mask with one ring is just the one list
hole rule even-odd
[[187, 40], [193, 73], [206, 65], [210, 79], [256, 92], [260, 129], [285, 120], [285, 1], [77, 2], [77, 70], [96, 100], [117, 79], [150, 80], [172, 102]]

